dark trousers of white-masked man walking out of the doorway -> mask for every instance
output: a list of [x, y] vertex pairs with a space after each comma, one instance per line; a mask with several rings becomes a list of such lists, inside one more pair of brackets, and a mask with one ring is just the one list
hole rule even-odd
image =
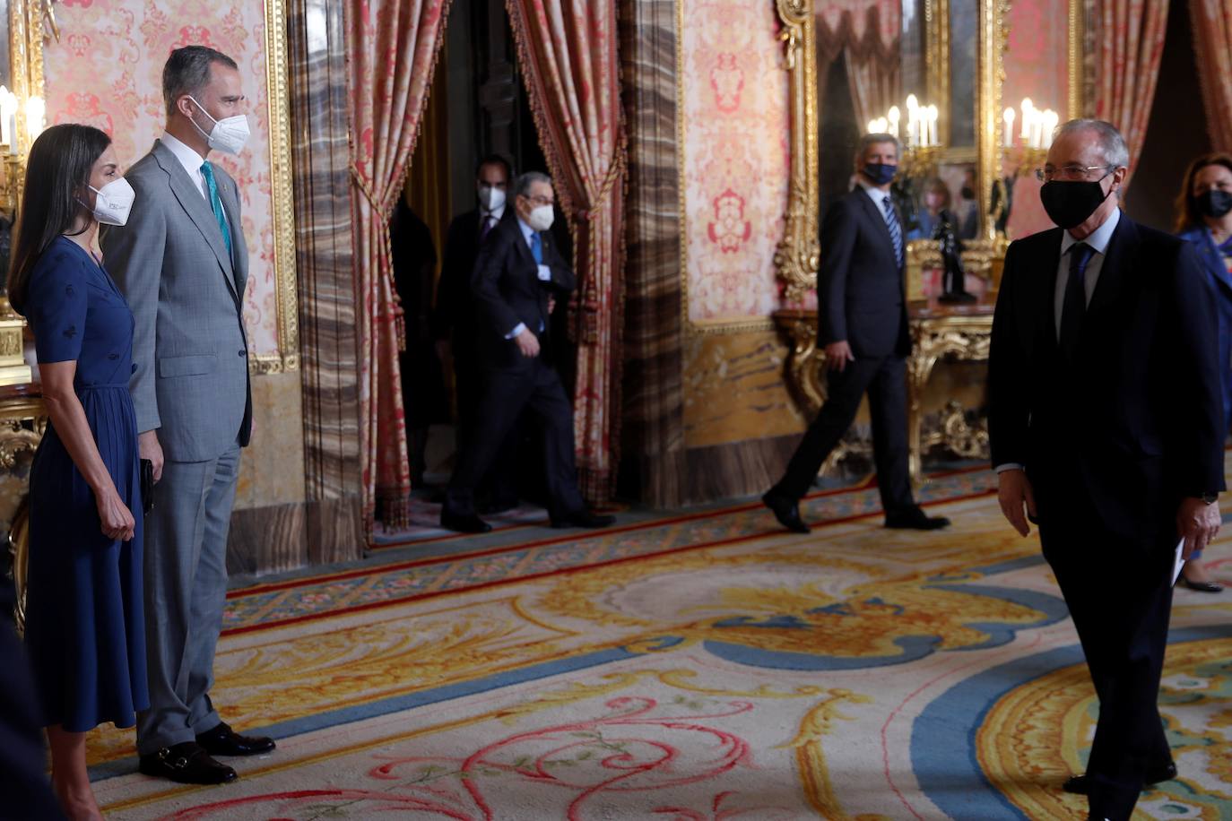
[[489, 373], [476, 409], [472, 436], [458, 452], [445, 490], [446, 511], [458, 516], [474, 513], [476, 487], [508, 447], [510, 432], [524, 411], [535, 417], [543, 433], [548, 512], [562, 517], [584, 507], [573, 452], [573, 405], [556, 370], [542, 357], [535, 357], [517, 368]]

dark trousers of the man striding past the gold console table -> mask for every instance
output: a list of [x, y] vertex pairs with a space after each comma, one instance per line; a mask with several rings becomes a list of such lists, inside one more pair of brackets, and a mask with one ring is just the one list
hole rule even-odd
[[856, 358], [843, 370], [829, 372], [828, 393], [787, 463], [786, 474], [770, 492], [793, 500], [808, 492], [825, 457], [855, 421], [860, 399], [867, 393], [881, 506], [887, 515], [913, 508], [907, 467], [907, 361], [897, 356]]

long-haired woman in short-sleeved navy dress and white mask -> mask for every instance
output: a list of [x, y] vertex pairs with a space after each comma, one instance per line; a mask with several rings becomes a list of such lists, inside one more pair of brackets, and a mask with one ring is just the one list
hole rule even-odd
[[34, 140], [9, 298], [30, 320], [51, 423], [30, 475], [26, 644], [70, 819], [101, 819], [85, 734], [149, 707], [133, 315], [102, 267], [99, 223], [123, 224], [133, 190], [111, 139], [53, 126]]

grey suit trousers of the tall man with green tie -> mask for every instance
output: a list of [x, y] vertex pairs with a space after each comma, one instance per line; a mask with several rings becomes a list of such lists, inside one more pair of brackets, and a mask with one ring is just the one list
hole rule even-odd
[[209, 462], [171, 462], [145, 518], [145, 645], [150, 709], [137, 716], [149, 755], [218, 726], [209, 700], [227, 601], [227, 532], [239, 442]]

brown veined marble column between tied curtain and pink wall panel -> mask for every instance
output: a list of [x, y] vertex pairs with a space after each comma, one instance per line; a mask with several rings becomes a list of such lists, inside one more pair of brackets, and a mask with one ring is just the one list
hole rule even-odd
[[628, 128], [621, 489], [684, 501], [685, 437], [675, 0], [620, 5]]

